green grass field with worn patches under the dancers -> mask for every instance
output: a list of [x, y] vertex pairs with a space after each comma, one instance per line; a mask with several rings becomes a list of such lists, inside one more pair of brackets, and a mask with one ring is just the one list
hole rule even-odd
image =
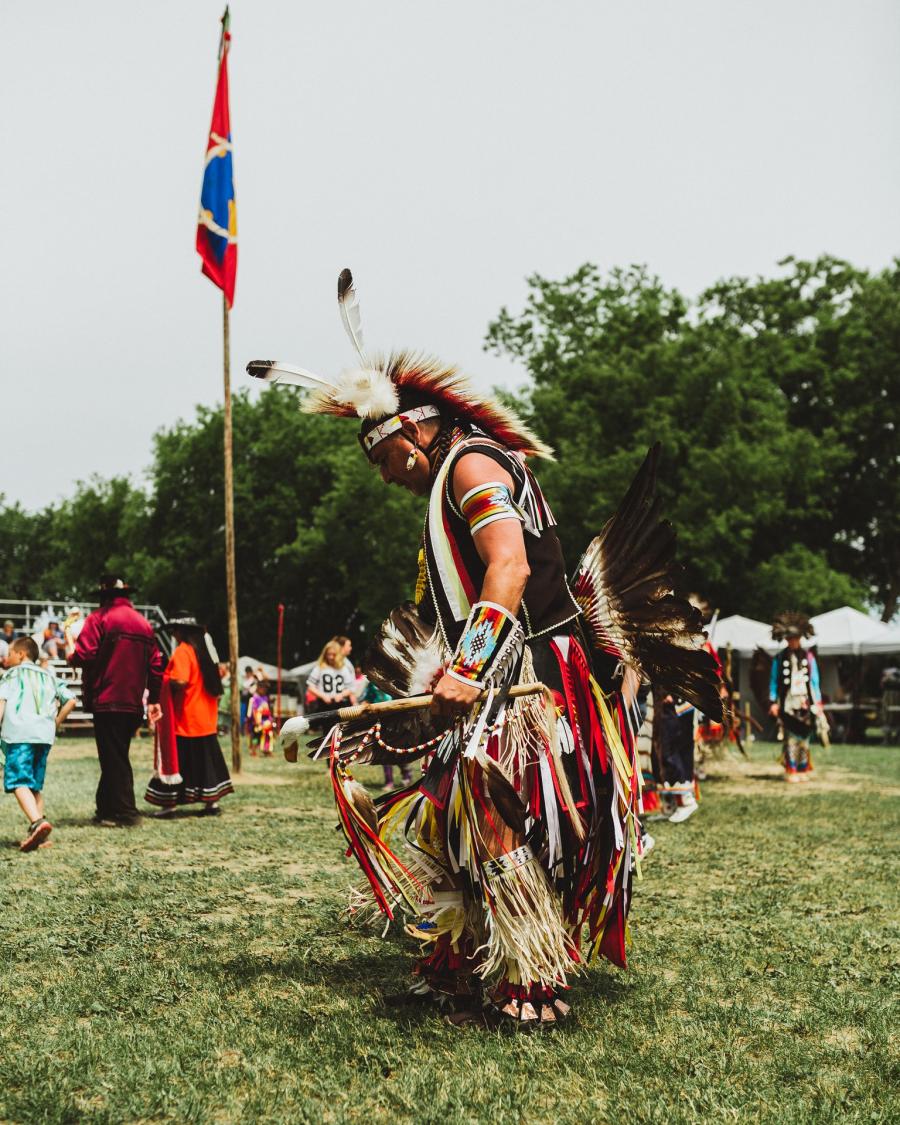
[[69, 740], [52, 848], [19, 854], [0, 804], [0, 1120], [896, 1122], [900, 750], [817, 765], [714, 767], [651, 825], [629, 971], [513, 1036], [382, 1005], [413, 950], [345, 929], [321, 767], [250, 759], [217, 820], [104, 830]]

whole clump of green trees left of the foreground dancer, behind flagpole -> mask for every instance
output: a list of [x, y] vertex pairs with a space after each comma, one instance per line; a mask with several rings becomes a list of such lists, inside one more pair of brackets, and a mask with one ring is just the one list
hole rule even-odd
[[[274, 659], [285, 605], [285, 660], [310, 659], [335, 632], [360, 641], [415, 585], [424, 511], [386, 489], [354, 428], [310, 417], [272, 389], [234, 400], [235, 557], [241, 648]], [[38, 513], [0, 502], [2, 590], [89, 600], [119, 570], [166, 612], [187, 609], [226, 638], [223, 413], [199, 407], [154, 440], [150, 490], [125, 478], [80, 484]], [[6, 544], [9, 549], [6, 549]]]

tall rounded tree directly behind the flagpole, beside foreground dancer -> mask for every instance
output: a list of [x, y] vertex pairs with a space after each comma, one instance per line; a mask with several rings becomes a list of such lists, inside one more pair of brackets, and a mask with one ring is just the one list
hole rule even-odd
[[[220, 408], [156, 436], [144, 564], [147, 594], [226, 636]], [[420, 504], [385, 492], [353, 425], [310, 417], [290, 393], [234, 403], [235, 559], [241, 648], [310, 659], [335, 632], [362, 637], [415, 580]], [[154, 551], [151, 544], [158, 544]], [[404, 562], [406, 564], [404, 566]]]

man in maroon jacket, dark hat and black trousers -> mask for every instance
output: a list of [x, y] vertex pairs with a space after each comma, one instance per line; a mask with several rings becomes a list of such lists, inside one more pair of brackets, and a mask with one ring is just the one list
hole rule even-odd
[[134, 802], [134, 776], [128, 752], [144, 713], [156, 722], [164, 660], [153, 627], [132, 605], [130, 586], [123, 579], [100, 579], [100, 608], [90, 613], [78, 640], [65, 631], [66, 657], [83, 670], [83, 705], [93, 714], [100, 758], [96, 822], [105, 828], [140, 824]]

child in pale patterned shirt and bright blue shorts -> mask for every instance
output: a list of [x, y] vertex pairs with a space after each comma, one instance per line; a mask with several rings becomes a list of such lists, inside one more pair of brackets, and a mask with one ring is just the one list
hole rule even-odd
[[19, 847], [32, 852], [53, 831], [44, 817], [44, 775], [56, 731], [75, 705], [62, 680], [37, 666], [37, 645], [19, 637], [9, 646], [7, 672], [0, 677], [0, 749], [3, 791], [15, 793], [28, 818]]

